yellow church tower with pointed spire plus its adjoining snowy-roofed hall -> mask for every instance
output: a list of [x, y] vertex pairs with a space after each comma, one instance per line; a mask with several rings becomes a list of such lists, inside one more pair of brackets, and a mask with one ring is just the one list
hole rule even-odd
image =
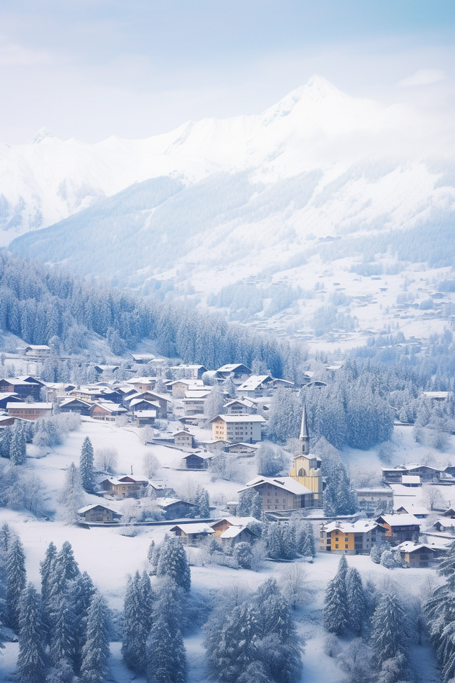
[[[321, 458], [309, 453], [307, 411], [303, 406], [300, 453], [294, 457], [289, 476], [257, 476], [241, 491], [254, 489], [261, 497], [262, 510], [286, 511], [323, 506]], [[240, 492], [240, 491], [239, 491]]]

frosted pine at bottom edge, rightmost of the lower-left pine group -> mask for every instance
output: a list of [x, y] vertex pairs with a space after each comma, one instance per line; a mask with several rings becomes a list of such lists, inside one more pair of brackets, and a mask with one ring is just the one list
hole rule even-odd
[[87, 640], [82, 649], [80, 672], [87, 683], [104, 683], [109, 658], [109, 609], [98, 591], [87, 614]]

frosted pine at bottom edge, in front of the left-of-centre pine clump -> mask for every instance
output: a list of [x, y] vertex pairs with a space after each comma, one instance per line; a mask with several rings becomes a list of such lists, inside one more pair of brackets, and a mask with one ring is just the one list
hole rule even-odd
[[157, 614], [147, 640], [149, 683], [185, 683], [188, 666], [183, 637], [165, 615]]

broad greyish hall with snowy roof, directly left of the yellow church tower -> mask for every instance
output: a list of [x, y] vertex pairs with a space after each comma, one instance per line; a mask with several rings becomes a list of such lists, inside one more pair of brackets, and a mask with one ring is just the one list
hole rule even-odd
[[[262, 510], [298, 510], [314, 507], [314, 494], [290, 476], [257, 476], [240, 491], [254, 489], [262, 501]], [[239, 491], [239, 492], [240, 492]]]

